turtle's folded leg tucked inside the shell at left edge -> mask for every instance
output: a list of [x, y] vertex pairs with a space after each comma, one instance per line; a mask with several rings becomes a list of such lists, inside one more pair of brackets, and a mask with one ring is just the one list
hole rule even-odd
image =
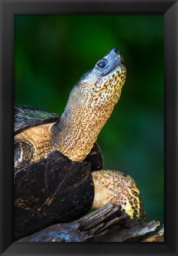
[[25, 141], [15, 142], [14, 145], [14, 170], [26, 167], [34, 155], [34, 147]]

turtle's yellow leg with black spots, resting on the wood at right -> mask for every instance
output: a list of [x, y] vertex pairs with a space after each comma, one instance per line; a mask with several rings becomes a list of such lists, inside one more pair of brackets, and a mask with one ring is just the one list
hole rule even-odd
[[120, 171], [101, 170], [91, 172], [94, 183], [92, 208], [98, 209], [105, 204], [120, 204], [123, 212], [130, 217], [144, 220], [143, 200], [136, 181]]

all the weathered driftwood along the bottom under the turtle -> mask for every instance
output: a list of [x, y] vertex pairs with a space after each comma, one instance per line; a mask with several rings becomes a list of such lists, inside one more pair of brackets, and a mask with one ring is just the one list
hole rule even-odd
[[161, 242], [163, 238], [160, 222], [128, 219], [120, 207], [108, 204], [78, 220], [48, 226], [18, 242]]

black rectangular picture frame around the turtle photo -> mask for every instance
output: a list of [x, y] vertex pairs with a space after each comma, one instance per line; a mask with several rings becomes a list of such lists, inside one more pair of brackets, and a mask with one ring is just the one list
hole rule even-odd
[[[164, 242], [14, 242], [15, 14], [164, 14]], [[175, 0], [1, 0], [1, 255], [177, 255], [177, 18]]]

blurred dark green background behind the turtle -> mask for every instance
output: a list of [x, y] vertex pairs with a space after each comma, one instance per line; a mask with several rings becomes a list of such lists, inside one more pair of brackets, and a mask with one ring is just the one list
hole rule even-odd
[[81, 75], [113, 47], [127, 79], [98, 137], [104, 168], [130, 174], [147, 220], [163, 222], [163, 15], [15, 15], [15, 103], [62, 113]]

